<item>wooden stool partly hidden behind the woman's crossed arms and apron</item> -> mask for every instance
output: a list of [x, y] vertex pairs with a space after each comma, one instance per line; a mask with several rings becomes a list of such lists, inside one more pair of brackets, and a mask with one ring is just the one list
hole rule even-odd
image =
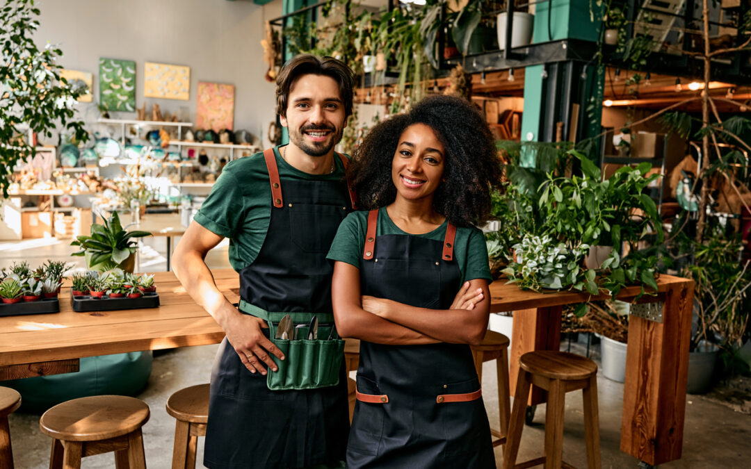
[[490, 434], [496, 437], [493, 446], [505, 444], [508, 433], [508, 416], [511, 414], [511, 396], [508, 388], [508, 337], [498, 332], [487, 331], [482, 344], [472, 345], [472, 358], [475, 359], [475, 370], [482, 385], [482, 364], [496, 360], [498, 371], [498, 413], [499, 430], [490, 428]]

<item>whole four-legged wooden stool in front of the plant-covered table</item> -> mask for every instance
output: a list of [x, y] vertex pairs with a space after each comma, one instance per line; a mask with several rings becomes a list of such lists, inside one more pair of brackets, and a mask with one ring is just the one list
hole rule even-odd
[[[535, 350], [519, 359], [519, 379], [514, 394], [514, 410], [508, 427], [508, 444], [503, 454], [503, 469], [512, 467], [572, 467], [561, 460], [563, 449], [563, 411], [566, 392], [584, 393], [584, 437], [587, 440], [587, 467], [600, 467], [600, 429], [597, 411], [597, 365], [584, 356], [554, 350]], [[516, 464], [529, 386], [547, 390], [545, 410], [545, 455]]]

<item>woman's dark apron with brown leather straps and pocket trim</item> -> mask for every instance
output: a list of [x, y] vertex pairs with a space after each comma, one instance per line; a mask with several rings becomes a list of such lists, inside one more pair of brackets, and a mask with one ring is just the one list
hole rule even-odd
[[[453, 258], [455, 227], [448, 224], [444, 242], [376, 237], [377, 219], [378, 211], [370, 212], [361, 293], [416, 307], [450, 308], [461, 286]], [[469, 345], [360, 341], [347, 467], [496, 467]]]

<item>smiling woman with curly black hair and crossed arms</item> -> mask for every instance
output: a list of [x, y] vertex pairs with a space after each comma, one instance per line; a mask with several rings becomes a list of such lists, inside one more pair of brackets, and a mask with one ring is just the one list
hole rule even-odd
[[361, 340], [347, 467], [495, 467], [469, 350], [490, 310], [473, 227], [500, 177], [490, 130], [469, 102], [430, 97], [354, 159], [370, 211], [342, 221], [328, 254], [336, 328]]

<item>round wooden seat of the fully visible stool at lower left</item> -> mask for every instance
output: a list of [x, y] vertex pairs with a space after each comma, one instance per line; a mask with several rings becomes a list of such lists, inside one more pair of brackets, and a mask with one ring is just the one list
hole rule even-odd
[[146, 402], [125, 395], [92, 395], [57, 404], [39, 420], [44, 434], [64, 441], [107, 440], [149, 420]]

